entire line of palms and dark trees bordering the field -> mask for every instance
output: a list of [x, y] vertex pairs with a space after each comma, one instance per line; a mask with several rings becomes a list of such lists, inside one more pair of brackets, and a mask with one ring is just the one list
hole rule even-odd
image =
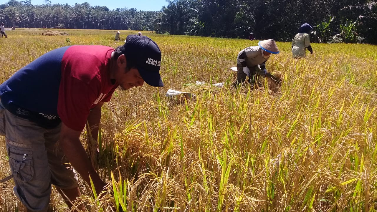
[[313, 26], [317, 42], [377, 44], [377, 3], [371, 0], [167, 0], [160, 11], [52, 4], [31, 0], [0, 5], [8, 27], [147, 30], [172, 35], [274, 38], [290, 41]]

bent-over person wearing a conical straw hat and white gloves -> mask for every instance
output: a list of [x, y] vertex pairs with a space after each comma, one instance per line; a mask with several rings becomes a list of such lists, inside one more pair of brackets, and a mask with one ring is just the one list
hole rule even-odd
[[247, 76], [249, 83], [254, 84], [258, 74], [266, 75], [266, 62], [271, 54], [279, 54], [274, 39], [261, 40], [258, 46], [240, 51], [237, 56], [237, 80], [233, 82], [233, 86], [243, 83]]

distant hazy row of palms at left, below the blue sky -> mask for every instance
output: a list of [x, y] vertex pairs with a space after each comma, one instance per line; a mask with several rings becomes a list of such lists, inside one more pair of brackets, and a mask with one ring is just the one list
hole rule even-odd
[[136, 8], [116, 8], [110, 11], [106, 6], [90, 6], [89, 3], [43, 5], [12, 0], [0, 10], [0, 20], [7, 27], [19, 28], [73, 28], [73, 29], [117, 29], [154, 31], [157, 12], [137, 11]]

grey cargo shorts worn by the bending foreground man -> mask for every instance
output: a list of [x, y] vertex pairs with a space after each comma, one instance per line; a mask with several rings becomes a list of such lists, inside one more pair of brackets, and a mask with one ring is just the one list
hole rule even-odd
[[61, 125], [54, 129], [41, 128], [13, 115], [0, 102], [0, 134], [5, 135], [15, 184], [13, 191], [29, 210], [47, 210], [51, 184], [62, 189], [78, 186], [73, 170], [57, 145], [60, 128]]

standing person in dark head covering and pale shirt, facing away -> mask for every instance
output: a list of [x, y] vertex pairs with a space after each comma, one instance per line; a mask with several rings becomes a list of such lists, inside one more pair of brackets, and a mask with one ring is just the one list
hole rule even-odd
[[307, 23], [304, 23], [300, 26], [299, 33], [294, 36], [292, 41], [292, 56], [294, 58], [305, 57], [306, 50], [310, 51], [310, 54], [313, 55], [313, 49], [310, 45], [310, 33], [311, 26]]

